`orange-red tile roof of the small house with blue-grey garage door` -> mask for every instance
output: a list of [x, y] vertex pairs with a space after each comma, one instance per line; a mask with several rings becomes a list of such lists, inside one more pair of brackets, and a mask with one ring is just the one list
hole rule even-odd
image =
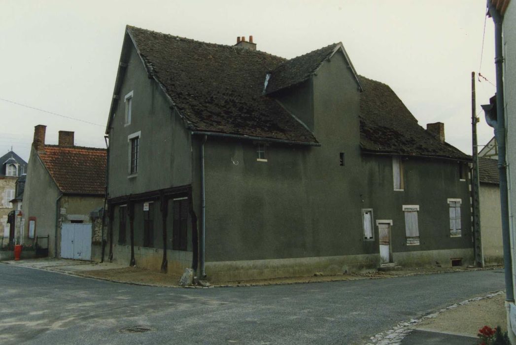
[[39, 157], [62, 193], [104, 195], [105, 149], [45, 145]]

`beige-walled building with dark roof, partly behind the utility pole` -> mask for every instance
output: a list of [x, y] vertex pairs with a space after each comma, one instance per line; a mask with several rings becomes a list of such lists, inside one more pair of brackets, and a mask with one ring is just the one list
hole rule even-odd
[[486, 265], [503, 265], [502, 220], [498, 160], [478, 158], [480, 182], [480, 232]]

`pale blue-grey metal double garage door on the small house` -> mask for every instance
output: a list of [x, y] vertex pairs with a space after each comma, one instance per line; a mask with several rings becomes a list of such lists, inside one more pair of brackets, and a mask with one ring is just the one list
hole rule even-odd
[[91, 260], [91, 223], [63, 223], [61, 227], [61, 257]]

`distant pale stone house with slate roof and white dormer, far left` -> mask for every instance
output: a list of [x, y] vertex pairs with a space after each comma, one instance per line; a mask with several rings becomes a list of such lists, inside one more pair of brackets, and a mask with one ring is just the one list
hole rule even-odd
[[11, 200], [15, 196], [16, 180], [27, 170], [27, 162], [12, 150], [0, 157], [0, 226], [2, 229], [2, 240], [0, 245], [12, 243], [14, 240], [13, 228], [11, 227], [12, 216], [9, 213], [13, 210]]

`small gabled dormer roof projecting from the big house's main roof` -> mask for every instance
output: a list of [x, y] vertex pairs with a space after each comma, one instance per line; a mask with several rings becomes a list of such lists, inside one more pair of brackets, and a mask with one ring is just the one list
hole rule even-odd
[[351, 60], [349, 59], [344, 46], [342, 43], [334, 43], [310, 53], [286, 60], [277, 68], [270, 71], [270, 76], [267, 81], [265, 92], [270, 94], [308, 80], [317, 72], [320, 65], [325, 60], [331, 58], [338, 50], [341, 50], [344, 54], [351, 72], [357, 79], [359, 88], [362, 89], [362, 86], [360, 85], [360, 79], [358, 78], [357, 72], [353, 68], [353, 64], [351, 63]]

